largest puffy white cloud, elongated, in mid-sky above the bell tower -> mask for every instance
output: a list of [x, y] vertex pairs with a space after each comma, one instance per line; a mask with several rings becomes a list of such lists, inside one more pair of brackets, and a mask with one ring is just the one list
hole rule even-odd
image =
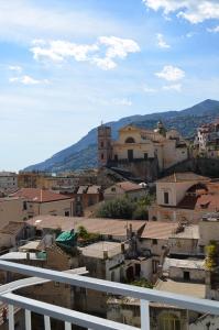
[[[33, 57], [63, 62], [74, 58], [77, 62], [89, 62], [99, 68], [109, 70], [117, 66], [116, 58], [125, 58], [129, 53], [140, 52], [136, 42], [116, 36], [100, 36], [92, 44], [76, 44], [66, 41], [37, 41], [31, 47]], [[103, 55], [102, 55], [103, 54]]]

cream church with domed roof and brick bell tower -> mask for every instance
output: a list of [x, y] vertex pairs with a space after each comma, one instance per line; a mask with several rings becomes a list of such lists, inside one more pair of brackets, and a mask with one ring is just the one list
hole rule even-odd
[[188, 145], [176, 130], [167, 131], [158, 121], [154, 130], [129, 124], [119, 130], [117, 141], [111, 139], [111, 128], [98, 128], [98, 164], [118, 166], [123, 164], [149, 164], [156, 161], [158, 172], [188, 158]]

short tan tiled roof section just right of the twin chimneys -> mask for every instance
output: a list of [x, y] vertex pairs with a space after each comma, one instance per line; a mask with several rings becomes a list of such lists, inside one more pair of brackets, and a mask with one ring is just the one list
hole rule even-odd
[[141, 238], [167, 240], [176, 232], [178, 226], [177, 222], [146, 221]]

